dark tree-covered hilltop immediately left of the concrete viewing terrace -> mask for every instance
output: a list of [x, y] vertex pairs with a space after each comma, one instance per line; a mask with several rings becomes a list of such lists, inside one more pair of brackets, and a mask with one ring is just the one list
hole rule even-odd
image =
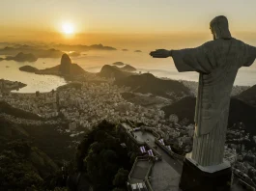
[[[115, 187], [123, 189], [126, 186], [128, 171], [124, 169], [130, 169], [131, 164], [128, 150], [120, 145], [122, 142], [117, 130], [115, 124], [102, 121], [77, 148], [77, 170], [88, 175], [95, 191], [110, 191]], [[113, 179], [116, 179], [116, 185]]]

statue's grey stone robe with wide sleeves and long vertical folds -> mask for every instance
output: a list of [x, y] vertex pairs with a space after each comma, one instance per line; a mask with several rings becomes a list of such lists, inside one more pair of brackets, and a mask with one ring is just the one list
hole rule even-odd
[[239, 68], [249, 67], [256, 48], [236, 39], [173, 50], [178, 71], [199, 72], [192, 159], [201, 166], [223, 162], [232, 87]]

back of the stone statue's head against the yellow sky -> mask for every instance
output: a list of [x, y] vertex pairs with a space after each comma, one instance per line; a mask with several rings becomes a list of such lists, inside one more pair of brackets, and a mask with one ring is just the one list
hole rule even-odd
[[229, 32], [228, 19], [224, 15], [214, 17], [210, 22], [210, 29], [213, 34], [213, 40], [230, 40], [232, 38]]

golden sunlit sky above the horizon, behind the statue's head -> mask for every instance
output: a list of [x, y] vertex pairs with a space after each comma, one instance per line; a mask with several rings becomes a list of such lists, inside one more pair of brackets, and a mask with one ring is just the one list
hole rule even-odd
[[255, 41], [255, 8], [255, 0], [1, 0], [0, 41], [68, 41], [65, 23], [72, 25], [72, 43], [159, 34], [207, 39], [209, 22], [219, 14], [228, 17], [233, 34]]

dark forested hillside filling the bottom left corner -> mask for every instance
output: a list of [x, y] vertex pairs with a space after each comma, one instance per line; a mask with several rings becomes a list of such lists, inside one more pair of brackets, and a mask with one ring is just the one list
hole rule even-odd
[[2, 144], [0, 190], [46, 190], [44, 179], [56, 174], [58, 166], [31, 142], [10, 140]]

